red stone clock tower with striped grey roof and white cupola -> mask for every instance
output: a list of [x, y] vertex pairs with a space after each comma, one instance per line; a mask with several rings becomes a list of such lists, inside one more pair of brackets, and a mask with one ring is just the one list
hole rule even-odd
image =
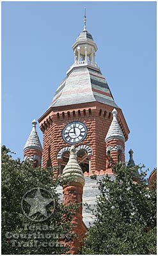
[[[129, 128], [95, 60], [97, 45], [86, 30], [86, 19], [72, 49], [74, 64], [38, 120], [43, 132], [43, 167], [57, 166], [61, 174], [74, 145], [84, 176], [102, 175], [110, 170], [108, 154], [124, 159]], [[122, 137], [114, 134], [115, 124]], [[109, 128], [114, 136], [108, 135]]]

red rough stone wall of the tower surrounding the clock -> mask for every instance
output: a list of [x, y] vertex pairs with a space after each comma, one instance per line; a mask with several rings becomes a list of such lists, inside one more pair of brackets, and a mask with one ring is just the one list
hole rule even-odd
[[[73, 111], [75, 111], [75, 114]], [[93, 156], [91, 156], [90, 174], [96, 171], [100, 172], [100, 170], [105, 171], [105, 138], [113, 118], [112, 111], [113, 107], [111, 106], [92, 102], [91, 104], [82, 104], [81, 106], [74, 105], [63, 106], [58, 109], [52, 108], [51, 113], [42, 116], [39, 122], [40, 128], [43, 131], [43, 167], [45, 168], [47, 166], [48, 161], [52, 166], [58, 166], [58, 160], [56, 159], [58, 151], [63, 147], [70, 147], [69, 144], [63, 141], [61, 131], [69, 122], [79, 120], [86, 124], [88, 135], [84, 141], [81, 141], [75, 147], [86, 144], [92, 148]], [[120, 122], [122, 123], [123, 133], [127, 138], [128, 133], [125, 125], [123, 126], [122, 118], [120, 118]]]

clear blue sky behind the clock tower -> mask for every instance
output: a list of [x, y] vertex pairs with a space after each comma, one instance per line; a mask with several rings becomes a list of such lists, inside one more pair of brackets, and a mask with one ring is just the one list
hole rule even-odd
[[[134, 161], [156, 166], [156, 3], [3, 2], [2, 143], [23, 157], [31, 121], [50, 106], [87, 30], [97, 63], [129, 125]], [[42, 132], [38, 128], [42, 141]]]

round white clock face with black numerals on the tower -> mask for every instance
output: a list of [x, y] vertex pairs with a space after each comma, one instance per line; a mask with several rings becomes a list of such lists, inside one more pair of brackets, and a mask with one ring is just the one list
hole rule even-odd
[[62, 138], [68, 144], [77, 144], [83, 141], [87, 135], [87, 127], [79, 121], [67, 124], [62, 131]]

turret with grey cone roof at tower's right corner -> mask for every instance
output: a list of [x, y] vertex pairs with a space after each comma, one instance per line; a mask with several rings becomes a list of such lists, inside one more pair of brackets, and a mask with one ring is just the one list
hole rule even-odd
[[[113, 109], [113, 120], [106, 135], [106, 173], [112, 173], [111, 162], [125, 161], [125, 137], [118, 124], [117, 111]], [[111, 161], [109, 161], [111, 159]]]

